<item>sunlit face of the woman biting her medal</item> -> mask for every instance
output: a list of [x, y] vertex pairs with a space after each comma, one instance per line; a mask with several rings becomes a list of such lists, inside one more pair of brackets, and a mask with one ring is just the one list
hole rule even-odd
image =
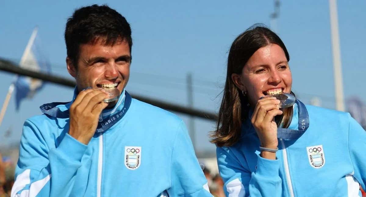
[[[232, 79], [235, 82], [235, 74]], [[251, 106], [265, 95], [290, 93], [292, 76], [283, 49], [276, 44], [259, 48], [244, 65], [236, 81], [235, 84], [247, 92]]]

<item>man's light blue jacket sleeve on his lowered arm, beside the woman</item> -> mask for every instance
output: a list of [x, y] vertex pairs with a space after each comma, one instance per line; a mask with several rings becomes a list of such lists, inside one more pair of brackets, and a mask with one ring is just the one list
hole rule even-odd
[[169, 196], [212, 197], [183, 121], [174, 140], [171, 162]]

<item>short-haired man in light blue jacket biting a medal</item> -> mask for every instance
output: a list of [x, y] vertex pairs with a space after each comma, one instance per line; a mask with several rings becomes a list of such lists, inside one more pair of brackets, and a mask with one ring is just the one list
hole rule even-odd
[[[73, 100], [26, 120], [12, 196], [211, 196], [183, 121], [124, 90], [126, 19], [105, 5], [80, 8], [65, 40]], [[113, 90], [119, 99], [105, 103]]]

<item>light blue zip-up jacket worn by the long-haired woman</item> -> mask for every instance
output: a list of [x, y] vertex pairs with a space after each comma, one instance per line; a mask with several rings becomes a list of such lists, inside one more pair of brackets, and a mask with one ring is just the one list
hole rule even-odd
[[[290, 129], [297, 130], [298, 105]], [[259, 156], [250, 121], [231, 147], [217, 147], [227, 196], [361, 196], [366, 183], [366, 132], [349, 113], [306, 105], [309, 128], [297, 139], [279, 139], [276, 160]]]

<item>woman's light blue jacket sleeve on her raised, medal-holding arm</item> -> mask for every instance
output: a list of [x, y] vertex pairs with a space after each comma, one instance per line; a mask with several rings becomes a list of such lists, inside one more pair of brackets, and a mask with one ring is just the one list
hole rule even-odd
[[237, 154], [240, 158], [236, 157], [229, 147], [217, 147], [216, 155], [226, 196], [281, 196], [278, 159], [270, 160], [258, 155], [256, 170], [251, 172], [246, 159], [241, 154]]

